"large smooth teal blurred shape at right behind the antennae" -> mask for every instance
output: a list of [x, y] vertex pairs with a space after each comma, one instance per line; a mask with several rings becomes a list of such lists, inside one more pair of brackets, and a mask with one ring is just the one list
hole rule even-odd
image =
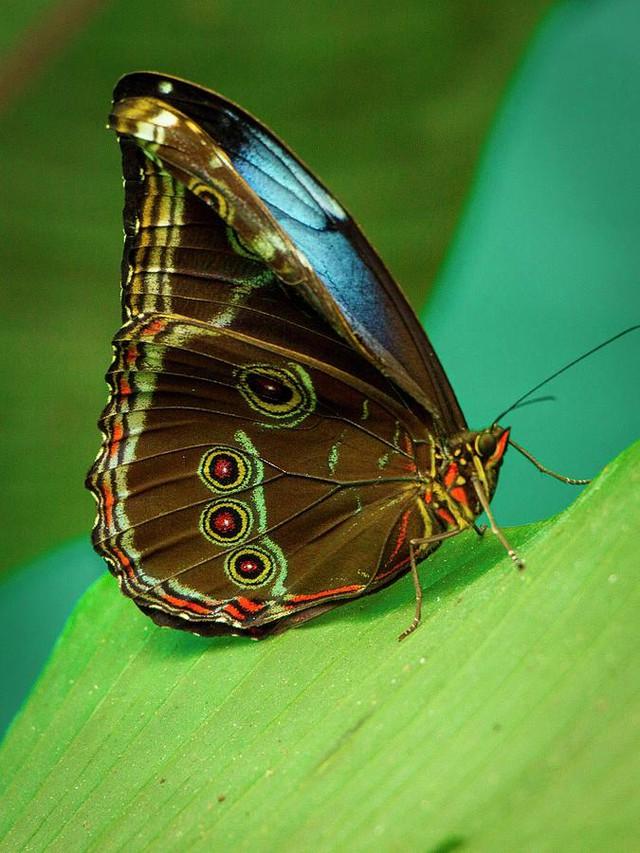
[[[469, 423], [640, 323], [640, 6], [561, 4], [499, 112], [424, 312]], [[548, 467], [591, 477], [640, 433], [640, 331], [507, 415]], [[493, 501], [502, 524], [558, 512], [574, 487], [510, 451]], [[640, 519], [635, 519], [640, 524]]]

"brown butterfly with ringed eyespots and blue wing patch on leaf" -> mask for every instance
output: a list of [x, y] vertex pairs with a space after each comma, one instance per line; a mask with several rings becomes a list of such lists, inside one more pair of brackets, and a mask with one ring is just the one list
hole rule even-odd
[[[260, 638], [377, 592], [489, 502], [473, 431], [351, 216], [218, 94], [123, 77], [123, 324], [93, 544], [157, 624]], [[478, 530], [478, 528], [476, 527]], [[479, 531], [480, 532], [480, 531]]]

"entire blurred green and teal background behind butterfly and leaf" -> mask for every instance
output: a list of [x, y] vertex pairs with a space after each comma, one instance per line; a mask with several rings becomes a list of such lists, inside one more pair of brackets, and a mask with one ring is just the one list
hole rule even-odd
[[[635, 0], [42, 0], [11, 13], [0, 565], [62, 546], [3, 586], [18, 692], [100, 570], [82, 483], [119, 322], [122, 188], [104, 124], [122, 73], [211, 86], [287, 140], [422, 312], [472, 424], [640, 317]], [[638, 351], [629, 336], [554, 384], [557, 403], [513, 413], [517, 440], [569, 474], [595, 473], [637, 437]], [[575, 496], [515, 453], [505, 469], [503, 523]], [[72, 537], [84, 538], [63, 546]]]

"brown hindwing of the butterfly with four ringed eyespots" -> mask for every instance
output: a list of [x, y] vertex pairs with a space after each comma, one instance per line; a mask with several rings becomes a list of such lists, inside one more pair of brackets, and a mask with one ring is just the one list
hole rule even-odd
[[375, 388], [173, 315], [123, 327], [108, 378], [94, 544], [160, 621], [259, 629], [406, 570], [413, 448]]

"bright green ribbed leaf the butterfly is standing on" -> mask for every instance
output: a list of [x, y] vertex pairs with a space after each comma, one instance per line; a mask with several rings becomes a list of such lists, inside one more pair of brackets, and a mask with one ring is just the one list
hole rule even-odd
[[631, 849], [639, 481], [640, 443], [512, 530], [523, 573], [447, 543], [401, 644], [408, 578], [260, 643], [99, 581], [6, 740], [2, 849]]

